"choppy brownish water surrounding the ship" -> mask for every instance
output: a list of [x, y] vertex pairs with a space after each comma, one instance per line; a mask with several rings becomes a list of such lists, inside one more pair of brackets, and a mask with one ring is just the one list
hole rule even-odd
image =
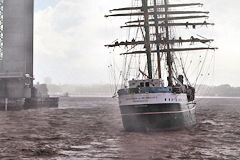
[[200, 99], [197, 118], [182, 131], [128, 133], [116, 100], [65, 98], [0, 112], [0, 159], [239, 159], [240, 99]]

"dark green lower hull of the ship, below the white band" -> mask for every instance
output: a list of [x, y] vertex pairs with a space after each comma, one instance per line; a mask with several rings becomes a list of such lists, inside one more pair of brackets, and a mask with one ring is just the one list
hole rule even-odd
[[176, 130], [196, 124], [195, 103], [120, 106], [126, 131]]

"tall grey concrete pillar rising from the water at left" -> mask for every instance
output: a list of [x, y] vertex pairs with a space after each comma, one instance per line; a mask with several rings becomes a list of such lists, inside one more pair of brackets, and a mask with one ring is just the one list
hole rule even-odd
[[26, 75], [33, 77], [33, 10], [33, 0], [3, 2], [3, 59], [0, 60], [2, 98], [31, 97], [33, 83]]

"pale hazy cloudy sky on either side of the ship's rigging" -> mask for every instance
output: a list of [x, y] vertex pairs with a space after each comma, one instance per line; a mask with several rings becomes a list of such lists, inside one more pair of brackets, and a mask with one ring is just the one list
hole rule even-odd
[[[104, 15], [109, 9], [124, 7], [130, 2], [35, 0], [36, 81], [51, 77], [58, 84], [109, 83], [109, 50], [104, 44], [115, 40], [114, 29], [118, 24], [109, 23]], [[216, 23], [212, 32], [219, 50], [216, 51], [214, 84], [240, 86], [240, 1], [198, 2], [205, 4], [211, 20]]]

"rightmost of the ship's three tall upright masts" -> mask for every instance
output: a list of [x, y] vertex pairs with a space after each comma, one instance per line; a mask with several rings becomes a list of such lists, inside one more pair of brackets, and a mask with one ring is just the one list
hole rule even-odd
[[166, 29], [166, 47], [167, 47], [167, 66], [168, 66], [168, 86], [173, 86], [173, 72], [172, 72], [172, 55], [169, 43], [169, 28], [168, 28], [168, 0], [164, 0], [165, 5], [165, 29]]

